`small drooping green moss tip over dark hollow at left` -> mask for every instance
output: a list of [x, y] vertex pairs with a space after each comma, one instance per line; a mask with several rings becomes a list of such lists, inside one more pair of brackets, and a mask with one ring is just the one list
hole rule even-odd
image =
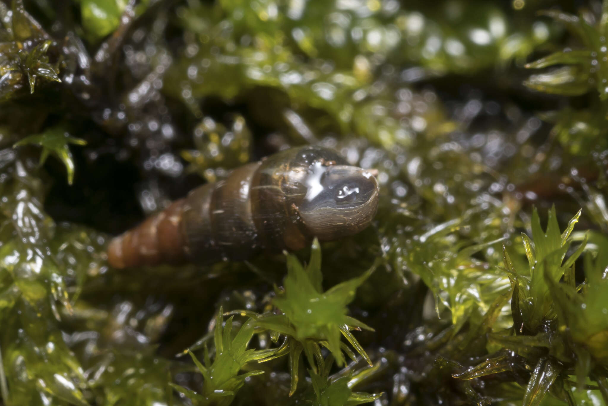
[[42, 146], [40, 154], [40, 166], [44, 164], [49, 154], [54, 154], [66, 165], [67, 183], [74, 181], [74, 160], [68, 144], [86, 145], [86, 141], [80, 138], [71, 137], [63, 126], [55, 126], [46, 129], [41, 134], [34, 134], [16, 143], [15, 148], [22, 145], [37, 144]]

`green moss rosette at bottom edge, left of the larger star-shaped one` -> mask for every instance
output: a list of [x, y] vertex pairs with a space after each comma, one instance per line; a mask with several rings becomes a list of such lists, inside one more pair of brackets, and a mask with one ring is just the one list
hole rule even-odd
[[170, 384], [171, 387], [183, 393], [195, 405], [229, 405], [237, 391], [243, 386], [247, 377], [264, 373], [261, 370], [254, 370], [239, 375], [238, 373], [243, 369], [243, 366], [251, 361], [274, 356], [278, 351], [278, 348], [263, 350], [247, 349], [247, 345], [253, 337], [256, 327], [253, 319], [247, 320], [234, 337], [232, 337], [233, 316], [226, 320], [226, 325], [224, 326], [223, 319], [224, 312], [222, 308], [219, 308], [213, 331], [213, 343], [215, 344], [213, 362], [206, 345], [204, 347], [204, 364], [196, 358], [192, 351], [188, 350], [188, 354], [192, 357], [196, 368], [198, 368], [204, 379], [202, 393], [196, 393], [179, 385]]

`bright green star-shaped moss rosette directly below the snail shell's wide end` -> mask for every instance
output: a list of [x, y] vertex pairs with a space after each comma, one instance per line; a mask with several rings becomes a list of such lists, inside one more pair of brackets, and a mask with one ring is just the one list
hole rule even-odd
[[288, 253], [285, 255], [287, 256], [288, 275], [283, 281], [283, 289], [275, 288], [276, 297], [272, 301], [281, 313], [255, 314], [244, 310], [234, 311], [234, 313], [254, 318], [258, 327], [271, 331], [275, 342], [278, 342], [280, 334], [285, 335], [285, 340], [277, 353], [263, 361], [289, 354], [290, 395], [297, 388], [302, 353], [305, 354], [309, 365], [316, 373], [326, 366], [321, 351], [322, 346], [330, 350], [333, 356], [331, 362], [336, 359], [338, 366], [345, 365], [344, 353], [352, 360], [357, 359], [354, 352], [340, 341], [342, 335], [357, 353], [369, 365], [372, 365], [370, 357], [365, 353], [365, 349], [359, 344], [351, 330], [373, 331], [373, 329], [347, 315], [347, 305], [353, 301], [357, 287], [371, 275], [375, 266], [360, 277], [344, 281], [323, 292], [321, 249], [317, 239], [314, 240], [311, 247], [308, 266], [302, 266], [295, 255]]

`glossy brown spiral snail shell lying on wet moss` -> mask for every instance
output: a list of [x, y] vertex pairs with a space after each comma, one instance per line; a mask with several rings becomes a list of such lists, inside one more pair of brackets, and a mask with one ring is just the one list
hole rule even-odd
[[263, 250], [299, 250], [367, 227], [378, 209], [378, 181], [336, 152], [302, 146], [237, 168], [202, 185], [112, 239], [116, 268], [241, 261]]

